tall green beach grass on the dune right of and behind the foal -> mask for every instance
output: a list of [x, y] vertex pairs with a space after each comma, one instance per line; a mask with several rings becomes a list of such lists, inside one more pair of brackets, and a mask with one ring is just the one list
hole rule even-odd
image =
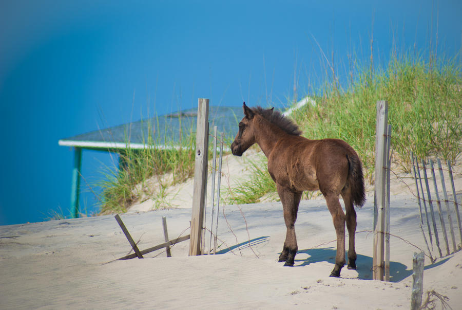
[[[419, 158], [455, 162], [462, 152], [460, 63], [407, 54], [392, 56], [387, 66], [374, 70], [364, 66], [355, 72], [350, 83], [326, 82], [309, 95], [315, 104], [294, 109], [291, 117], [304, 137], [347, 141], [361, 158], [365, 178], [373, 184], [376, 102], [387, 100], [393, 160], [402, 171], [409, 172], [411, 151]], [[266, 158], [254, 162], [252, 172], [239, 186], [228, 189], [226, 203], [256, 203], [276, 191], [266, 171]]]

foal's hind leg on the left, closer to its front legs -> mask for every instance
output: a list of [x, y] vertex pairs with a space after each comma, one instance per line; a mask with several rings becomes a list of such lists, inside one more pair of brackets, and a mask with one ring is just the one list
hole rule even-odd
[[340, 270], [345, 265], [345, 214], [338, 200], [338, 195], [326, 193], [324, 197], [331, 212], [337, 234], [337, 255], [335, 256], [335, 267], [331, 272], [331, 277], [340, 277]]

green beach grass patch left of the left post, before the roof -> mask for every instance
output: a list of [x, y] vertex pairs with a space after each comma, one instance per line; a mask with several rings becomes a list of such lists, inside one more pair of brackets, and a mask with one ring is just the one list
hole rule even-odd
[[[156, 118], [153, 118], [152, 127], [160, 130]], [[166, 131], [167, 127], [162, 130]], [[179, 135], [175, 137], [178, 139], [169, 137], [164, 141], [148, 136], [144, 149], [132, 149], [127, 142], [127, 147], [118, 152], [118, 162], [103, 169], [103, 178], [97, 184], [102, 192], [99, 198], [101, 213], [126, 212], [132, 203], [141, 198], [161, 201], [168, 186], [191, 177], [194, 173], [196, 134], [191, 127], [189, 131], [180, 131]], [[149, 182], [153, 176], [157, 176], [155, 186]]]

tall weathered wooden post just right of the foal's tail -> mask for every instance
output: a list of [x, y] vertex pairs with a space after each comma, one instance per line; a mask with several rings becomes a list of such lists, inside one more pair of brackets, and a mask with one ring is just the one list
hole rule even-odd
[[388, 126], [388, 102], [377, 101], [375, 137], [375, 189], [374, 189], [374, 247], [372, 274], [374, 280], [383, 281], [384, 226], [385, 226], [385, 135]]

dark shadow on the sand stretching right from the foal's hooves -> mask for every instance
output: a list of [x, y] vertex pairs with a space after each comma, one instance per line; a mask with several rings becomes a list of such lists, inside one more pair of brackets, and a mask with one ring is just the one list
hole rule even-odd
[[[311, 263], [317, 263], [317, 262], [329, 262], [332, 265], [335, 264], [336, 249], [334, 247], [299, 250], [297, 254], [300, 254], [300, 253], [308, 254], [309, 257], [304, 260], [296, 259], [295, 260], [296, 265], [294, 265], [294, 267], [305, 266], [305, 265], [309, 265]], [[345, 254], [348, 255], [348, 252]], [[427, 265], [425, 266], [424, 269], [427, 270], [427, 269], [439, 266], [447, 262], [449, 259], [450, 257], [444, 260], [441, 260], [437, 263]], [[411, 261], [411, 256], [409, 260]], [[358, 272], [359, 279], [362, 279], [362, 280], [372, 279], [372, 257], [357, 254], [356, 265], [357, 265], [356, 271]], [[344, 268], [346, 268], [346, 266]], [[409, 277], [410, 275], [412, 275], [412, 268], [410, 269], [407, 269], [407, 268], [408, 267], [406, 265], [401, 264], [399, 262], [390, 262], [390, 282], [399, 282]]]

